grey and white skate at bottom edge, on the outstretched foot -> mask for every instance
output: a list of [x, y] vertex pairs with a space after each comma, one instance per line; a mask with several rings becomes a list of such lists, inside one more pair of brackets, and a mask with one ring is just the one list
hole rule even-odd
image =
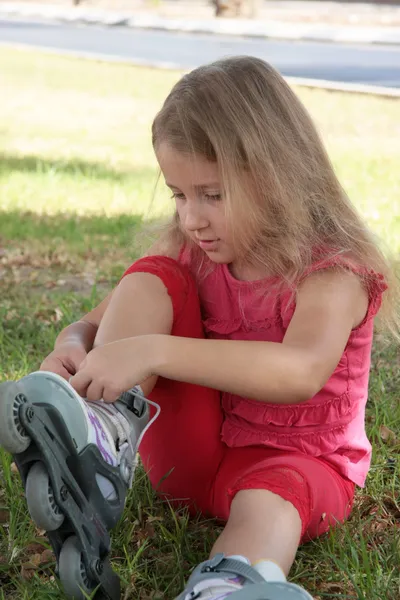
[[249, 564], [217, 554], [201, 563], [176, 600], [312, 600], [303, 588], [287, 581], [266, 581]]

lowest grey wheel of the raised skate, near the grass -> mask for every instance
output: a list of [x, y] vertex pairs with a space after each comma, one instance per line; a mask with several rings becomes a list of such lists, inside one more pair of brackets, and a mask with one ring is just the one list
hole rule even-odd
[[78, 538], [69, 537], [61, 548], [58, 573], [65, 595], [70, 600], [85, 600], [96, 587], [86, 571]]

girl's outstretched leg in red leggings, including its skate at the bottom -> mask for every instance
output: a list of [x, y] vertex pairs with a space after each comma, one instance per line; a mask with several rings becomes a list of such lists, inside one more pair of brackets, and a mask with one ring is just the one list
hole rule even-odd
[[302, 540], [348, 516], [354, 484], [310, 456], [229, 448], [213, 492], [214, 515], [228, 523], [178, 600], [311, 600], [285, 576]]

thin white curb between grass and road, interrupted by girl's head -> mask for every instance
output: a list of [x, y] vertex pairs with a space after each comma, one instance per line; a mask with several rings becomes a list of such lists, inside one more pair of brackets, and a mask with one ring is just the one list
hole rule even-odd
[[[29, 44], [19, 44], [14, 42], [0, 41], [0, 48], [15, 48], [16, 50], [32, 51], [32, 49], [55, 56], [64, 56], [69, 58], [79, 58], [83, 60], [93, 60], [96, 62], [125, 64], [136, 67], [147, 67], [153, 69], [165, 69], [188, 72], [191, 67], [182, 67], [178, 63], [167, 61], [143, 60], [141, 58], [126, 58], [118, 55], [98, 54], [96, 52], [79, 52], [76, 50], [60, 50], [49, 46], [31, 46]], [[193, 66], [192, 68], [195, 68]], [[400, 98], [400, 88], [390, 88], [376, 85], [365, 85], [358, 83], [341, 83], [339, 81], [329, 81], [325, 79], [309, 79], [305, 77], [290, 77], [282, 75], [289, 85], [298, 85], [300, 87], [325, 89], [332, 92], [347, 92], [351, 94], [363, 94], [369, 96], [380, 96], [383, 98]]]

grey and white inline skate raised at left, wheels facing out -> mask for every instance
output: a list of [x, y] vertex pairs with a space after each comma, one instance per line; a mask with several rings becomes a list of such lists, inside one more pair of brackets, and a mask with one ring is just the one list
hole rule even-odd
[[[149, 420], [149, 405], [156, 408]], [[14, 455], [28, 510], [44, 529], [67, 598], [119, 600], [109, 531], [132, 485], [140, 441], [159, 414], [140, 388], [85, 402], [59, 375], [0, 385], [0, 446]]]

